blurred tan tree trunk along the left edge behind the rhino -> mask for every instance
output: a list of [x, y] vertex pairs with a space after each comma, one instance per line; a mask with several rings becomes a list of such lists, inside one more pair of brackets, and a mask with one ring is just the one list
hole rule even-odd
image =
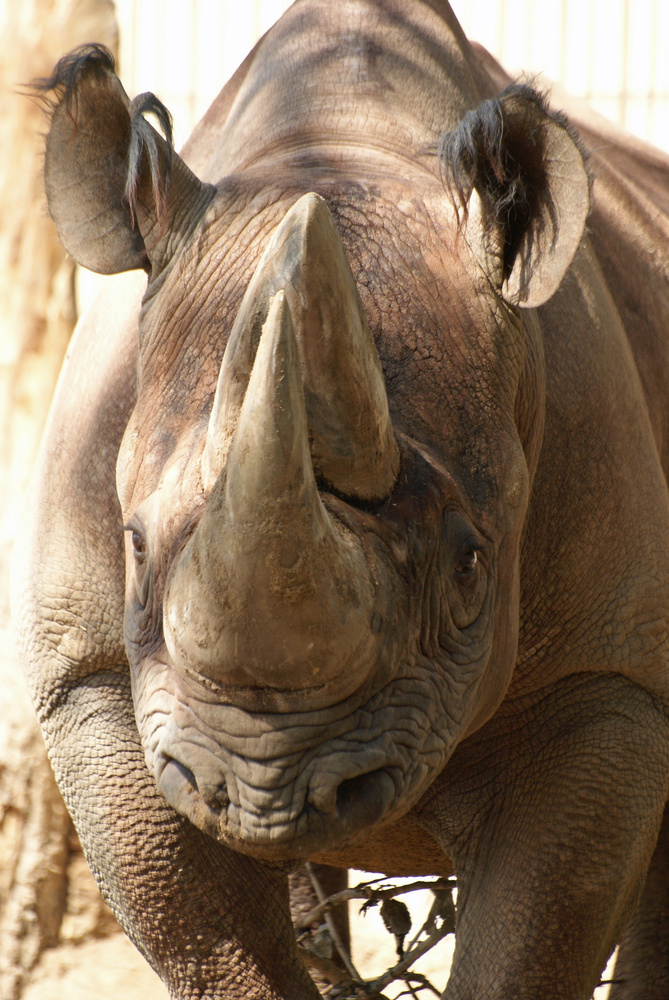
[[115, 50], [118, 38], [111, 0], [9, 0], [0, 16], [0, 996], [16, 1000], [44, 948], [115, 926], [53, 779], [9, 628], [10, 551], [75, 320], [74, 264], [44, 197], [46, 121], [17, 87], [83, 42]]

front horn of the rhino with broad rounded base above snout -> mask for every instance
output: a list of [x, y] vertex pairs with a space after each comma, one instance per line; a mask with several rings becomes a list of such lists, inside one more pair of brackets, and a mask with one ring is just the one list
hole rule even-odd
[[[290, 308], [271, 303], [224, 473], [165, 591], [177, 670], [225, 687], [357, 690], [377, 660], [385, 600], [311, 466]], [[376, 624], [375, 624], [376, 623]]]

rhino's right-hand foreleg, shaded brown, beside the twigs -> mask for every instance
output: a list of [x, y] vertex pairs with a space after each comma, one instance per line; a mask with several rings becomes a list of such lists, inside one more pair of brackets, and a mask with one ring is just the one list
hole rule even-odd
[[447, 1000], [589, 1000], [639, 898], [668, 760], [661, 709], [614, 676], [509, 703], [461, 745], [422, 812], [458, 879]]

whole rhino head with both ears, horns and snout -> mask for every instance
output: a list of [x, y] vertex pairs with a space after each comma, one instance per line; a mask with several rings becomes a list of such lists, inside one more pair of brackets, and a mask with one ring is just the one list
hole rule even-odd
[[340, 849], [415, 805], [509, 686], [543, 403], [517, 307], [576, 252], [581, 154], [516, 90], [466, 95], [397, 198], [303, 166], [214, 185], [100, 49], [49, 86], [65, 246], [149, 275], [117, 482], [149, 770], [236, 850]]

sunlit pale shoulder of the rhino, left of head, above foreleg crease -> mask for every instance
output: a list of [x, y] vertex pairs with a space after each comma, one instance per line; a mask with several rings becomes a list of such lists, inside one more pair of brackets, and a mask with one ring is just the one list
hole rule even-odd
[[136, 393], [146, 277], [108, 279], [61, 373], [13, 569], [13, 613], [38, 711], [64, 686], [126, 669], [123, 525], [115, 466]]

